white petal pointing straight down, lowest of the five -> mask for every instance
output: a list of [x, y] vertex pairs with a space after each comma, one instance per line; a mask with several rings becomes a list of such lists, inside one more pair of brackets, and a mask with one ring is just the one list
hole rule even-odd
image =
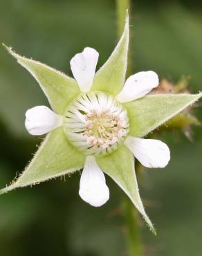
[[109, 188], [94, 156], [86, 156], [79, 194], [86, 203], [95, 207], [101, 206], [109, 200]]

